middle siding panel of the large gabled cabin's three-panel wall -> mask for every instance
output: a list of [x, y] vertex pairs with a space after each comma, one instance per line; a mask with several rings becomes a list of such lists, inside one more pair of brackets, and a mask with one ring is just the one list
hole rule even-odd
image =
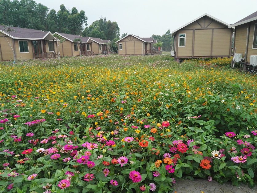
[[194, 56], [211, 55], [212, 30], [195, 30]]

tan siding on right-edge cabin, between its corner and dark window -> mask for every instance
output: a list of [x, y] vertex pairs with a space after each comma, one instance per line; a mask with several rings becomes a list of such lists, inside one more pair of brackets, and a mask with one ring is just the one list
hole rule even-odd
[[236, 26], [236, 31], [235, 31], [235, 45], [234, 45], [234, 48], [236, 47], [235, 53], [243, 54], [242, 58], [244, 58], [244, 55], [245, 55], [248, 25], [249, 23], [245, 23], [245, 24]]

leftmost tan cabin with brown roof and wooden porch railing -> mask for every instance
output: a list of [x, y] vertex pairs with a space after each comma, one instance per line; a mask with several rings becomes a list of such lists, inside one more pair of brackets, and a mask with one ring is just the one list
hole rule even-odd
[[51, 32], [11, 27], [15, 31], [10, 32], [9, 38], [5, 28], [0, 25], [0, 32], [2, 32], [0, 33], [0, 61], [14, 60], [14, 56], [16, 59], [55, 58], [57, 56], [56, 39]]

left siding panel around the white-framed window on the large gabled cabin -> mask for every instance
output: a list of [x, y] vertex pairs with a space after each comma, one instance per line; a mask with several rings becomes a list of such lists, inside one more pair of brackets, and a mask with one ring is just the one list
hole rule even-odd
[[177, 34], [186, 34], [186, 47], [178, 47], [177, 57], [192, 57], [193, 30], [179, 30]]

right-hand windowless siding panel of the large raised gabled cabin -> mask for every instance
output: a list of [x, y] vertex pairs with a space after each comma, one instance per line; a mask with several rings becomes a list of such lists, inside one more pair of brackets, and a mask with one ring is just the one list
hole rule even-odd
[[229, 56], [231, 29], [214, 29], [212, 56]]

